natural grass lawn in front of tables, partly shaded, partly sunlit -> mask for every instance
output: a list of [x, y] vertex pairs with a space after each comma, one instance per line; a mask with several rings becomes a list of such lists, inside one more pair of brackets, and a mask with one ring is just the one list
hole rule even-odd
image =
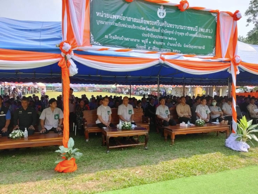
[[[225, 134], [178, 135], [171, 146], [151, 128], [148, 150], [139, 146], [111, 149], [110, 154], [100, 135], [91, 133], [88, 143], [72, 137], [74, 148], [84, 154], [74, 173], [54, 172], [57, 147], [0, 151], [0, 192], [99, 193], [258, 164], [257, 143], [248, 153], [233, 151], [224, 146]], [[230, 180], [225, 181], [230, 187]]]

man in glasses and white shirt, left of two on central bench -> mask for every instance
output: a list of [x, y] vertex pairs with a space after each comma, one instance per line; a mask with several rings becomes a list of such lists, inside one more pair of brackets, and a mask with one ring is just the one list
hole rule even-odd
[[108, 106], [108, 97], [103, 97], [103, 104], [97, 108], [98, 120], [96, 124], [99, 128], [102, 127], [114, 127], [111, 123], [111, 108]]

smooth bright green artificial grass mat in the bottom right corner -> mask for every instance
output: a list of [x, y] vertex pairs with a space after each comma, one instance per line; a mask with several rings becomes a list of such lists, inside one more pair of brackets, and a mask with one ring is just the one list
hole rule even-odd
[[178, 178], [159, 183], [108, 191], [102, 194], [171, 193], [257, 193], [258, 166], [226, 170], [214, 174]]

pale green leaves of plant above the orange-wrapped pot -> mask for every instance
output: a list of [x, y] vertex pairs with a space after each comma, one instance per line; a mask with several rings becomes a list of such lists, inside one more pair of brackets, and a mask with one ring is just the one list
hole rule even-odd
[[75, 148], [73, 149], [74, 146], [74, 141], [73, 138], [69, 138], [67, 147], [64, 146], [60, 146], [59, 150], [56, 150], [55, 152], [60, 152], [62, 159], [57, 160], [55, 163], [59, 163], [62, 162], [64, 160], [71, 160], [71, 158], [75, 158], [75, 159], [79, 159], [83, 154], [78, 152], [79, 149]]

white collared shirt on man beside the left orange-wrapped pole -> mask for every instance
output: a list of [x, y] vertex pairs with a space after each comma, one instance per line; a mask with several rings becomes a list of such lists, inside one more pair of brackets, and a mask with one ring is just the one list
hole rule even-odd
[[40, 115], [40, 119], [45, 120], [44, 127], [47, 130], [58, 127], [59, 119], [64, 118], [64, 114], [60, 108], [55, 108], [52, 112], [51, 107], [44, 109]]

